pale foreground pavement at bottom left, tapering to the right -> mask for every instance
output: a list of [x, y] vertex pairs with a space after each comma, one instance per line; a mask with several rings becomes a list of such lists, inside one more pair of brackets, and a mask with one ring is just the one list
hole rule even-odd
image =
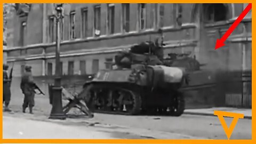
[[[86, 119], [86, 118], [85, 118]], [[190, 135], [137, 129], [113, 124], [90, 123], [85, 119], [51, 120], [44, 116], [3, 116], [4, 139], [202, 139]]]

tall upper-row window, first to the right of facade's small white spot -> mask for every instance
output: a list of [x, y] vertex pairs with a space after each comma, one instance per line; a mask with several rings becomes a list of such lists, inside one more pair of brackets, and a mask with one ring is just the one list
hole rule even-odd
[[114, 34], [115, 33], [115, 5], [108, 4], [108, 33]]

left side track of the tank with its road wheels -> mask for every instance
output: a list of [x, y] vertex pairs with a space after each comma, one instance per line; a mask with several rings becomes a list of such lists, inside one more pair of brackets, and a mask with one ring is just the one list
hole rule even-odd
[[122, 87], [93, 85], [86, 89], [90, 109], [98, 113], [137, 115], [141, 109], [140, 94]]

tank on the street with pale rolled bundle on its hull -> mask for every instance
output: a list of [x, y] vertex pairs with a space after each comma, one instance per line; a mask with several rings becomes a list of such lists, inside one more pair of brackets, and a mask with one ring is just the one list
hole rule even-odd
[[[122, 115], [183, 114], [182, 88], [189, 85], [191, 71], [201, 65], [186, 54], [170, 53], [164, 59], [163, 44], [157, 41], [119, 52], [112, 69], [98, 71], [84, 84], [80, 95], [90, 110]], [[184, 58], [177, 58], [180, 56]]]

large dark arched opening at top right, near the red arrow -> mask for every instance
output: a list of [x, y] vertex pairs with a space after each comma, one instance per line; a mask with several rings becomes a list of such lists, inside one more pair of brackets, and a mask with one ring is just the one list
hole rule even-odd
[[204, 4], [204, 22], [217, 22], [227, 19], [227, 7], [224, 4]]

